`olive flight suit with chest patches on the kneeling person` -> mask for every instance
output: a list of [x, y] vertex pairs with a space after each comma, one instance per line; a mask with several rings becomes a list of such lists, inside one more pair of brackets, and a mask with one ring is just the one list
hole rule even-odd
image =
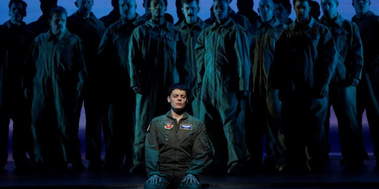
[[[202, 121], [184, 112], [177, 121], [171, 110], [154, 118], [148, 128], [145, 142], [145, 158], [148, 176], [159, 175], [162, 183], [145, 188], [166, 188], [169, 182], [179, 185], [186, 174], [198, 176], [209, 152], [206, 127]], [[200, 184], [181, 188], [201, 188]]]

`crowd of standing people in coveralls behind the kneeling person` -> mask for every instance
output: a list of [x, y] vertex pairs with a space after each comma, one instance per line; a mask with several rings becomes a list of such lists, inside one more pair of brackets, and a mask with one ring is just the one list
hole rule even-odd
[[260, 0], [258, 13], [253, 0], [237, 0], [237, 13], [232, 0], [214, 0], [203, 21], [199, 1], [176, 0], [173, 24], [167, 0], [144, 0], [141, 16], [136, 0], [112, 0], [114, 10], [100, 19], [93, 0], [73, 1], [71, 16], [57, 0], [40, 0], [43, 15], [27, 25], [26, 3], [11, 0], [11, 19], [0, 26], [1, 168], [12, 119], [17, 169], [64, 171], [70, 163], [73, 172], [85, 171], [78, 138], [84, 103], [88, 169], [125, 162], [130, 173], [151, 175], [146, 135], [153, 118], [170, 110], [165, 99], [174, 83], [189, 89], [186, 112], [205, 125], [203, 173], [321, 172], [332, 105], [340, 164], [359, 168], [368, 160], [365, 110], [379, 158], [379, 16], [370, 0], [350, 2], [351, 21], [338, 13], [338, 0]]

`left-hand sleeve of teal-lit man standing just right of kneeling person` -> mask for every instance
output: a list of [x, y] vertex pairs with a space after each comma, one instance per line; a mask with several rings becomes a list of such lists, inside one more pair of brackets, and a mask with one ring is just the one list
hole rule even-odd
[[205, 35], [207, 29], [203, 30], [200, 35], [198, 40], [196, 41], [196, 46], [195, 46], [195, 54], [196, 54], [196, 61], [197, 61], [197, 67], [198, 67], [198, 86], [202, 84], [203, 82], [203, 76], [205, 73]]

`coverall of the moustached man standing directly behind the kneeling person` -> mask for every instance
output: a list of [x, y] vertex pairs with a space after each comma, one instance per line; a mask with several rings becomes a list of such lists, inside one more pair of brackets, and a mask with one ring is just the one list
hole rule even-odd
[[[196, 53], [195, 53], [195, 46], [196, 41], [198, 40], [198, 37], [203, 31], [204, 28], [209, 27], [208, 24], [204, 23], [203, 20], [201, 20], [198, 17], [198, 22], [194, 24], [191, 28], [191, 26], [186, 23], [185, 20], [183, 20], [178, 26], [175, 28], [180, 31], [181, 35], [184, 38], [184, 41], [187, 45], [187, 55], [189, 58], [189, 62], [191, 63], [191, 70], [188, 71], [190, 74], [191, 80], [186, 81], [186, 86], [189, 86], [188, 89], [191, 90], [191, 95], [188, 97], [189, 101], [186, 106], [186, 111], [189, 114], [193, 114], [195, 117], [200, 117], [200, 101], [197, 98], [197, 93], [200, 92], [201, 89], [199, 89], [196, 85], [198, 75], [197, 75], [197, 63], [196, 63]], [[179, 73], [180, 74], [180, 73]], [[189, 82], [189, 83], [188, 83]]]

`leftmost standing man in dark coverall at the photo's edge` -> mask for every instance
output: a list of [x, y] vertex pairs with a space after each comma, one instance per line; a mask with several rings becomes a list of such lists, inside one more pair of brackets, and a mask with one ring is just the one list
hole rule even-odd
[[26, 3], [11, 0], [8, 7], [11, 19], [0, 25], [0, 168], [3, 169], [8, 160], [9, 123], [12, 119], [13, 159], [16, 168], [23, 170], [34, 162], [31, 103], [24, 97], [21, 78], [35, 34], [22, 21], [26, 16]]

